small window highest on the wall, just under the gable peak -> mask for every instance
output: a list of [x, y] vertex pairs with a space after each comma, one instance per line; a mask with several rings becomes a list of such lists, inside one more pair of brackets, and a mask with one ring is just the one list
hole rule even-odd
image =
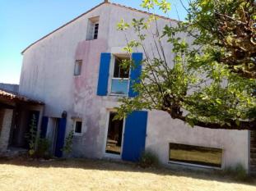
[[99, 18], [99, 16], [96, 16], [88, 20], [87, 40], [98, 39], [100, 27]]

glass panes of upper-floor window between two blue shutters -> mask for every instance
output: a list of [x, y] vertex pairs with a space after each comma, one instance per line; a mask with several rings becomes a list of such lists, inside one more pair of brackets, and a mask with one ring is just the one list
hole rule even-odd
[[114, 57], [114, 74], [111, 81], [111, 93], [126, 95], [128, 93], [129, 69], [123, 69], [121, 63], [127, 58]]

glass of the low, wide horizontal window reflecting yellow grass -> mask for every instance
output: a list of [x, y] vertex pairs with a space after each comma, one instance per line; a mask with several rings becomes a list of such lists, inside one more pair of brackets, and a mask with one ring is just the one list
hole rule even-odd
[[170, 161], [221, 168], [222, 150], [170, 143]]

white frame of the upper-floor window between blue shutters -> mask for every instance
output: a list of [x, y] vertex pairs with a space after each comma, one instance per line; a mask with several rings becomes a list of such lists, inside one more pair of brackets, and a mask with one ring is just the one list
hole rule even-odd
[[[125, 56], [123, 55], [119, 55], [119, 54], [112, 54], [111, 55], [111, 61], [110, 61], [110, 74], [109, 74], [109, 95], [110, 96], [118, 96], [118, 97], [128, 97], [128, 92], [129, 92], [129, 88], [130, 88], [130, 75], [131, 75], [131, 68], [129, 69], [129, 75], [128, 78], [115, 78], [114, 77], [114, 65], [115, 65], [115, 59], [117, 57], [121, 57], [121, 58], [129, 58], [127, 54], [125, 54]], [[112, 93], [112, 80], [128, 80], [128, 86], [127, 86], [127, 93], [124, 94], [119, 94], [119, 93]]]

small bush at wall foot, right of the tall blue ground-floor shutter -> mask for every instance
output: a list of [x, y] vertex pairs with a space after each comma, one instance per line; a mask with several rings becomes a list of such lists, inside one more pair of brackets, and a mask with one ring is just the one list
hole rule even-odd
[[159, 164], [158, 157], [153, 152], [143, 152], [138, 165], [142, 168], [156, 167]]

